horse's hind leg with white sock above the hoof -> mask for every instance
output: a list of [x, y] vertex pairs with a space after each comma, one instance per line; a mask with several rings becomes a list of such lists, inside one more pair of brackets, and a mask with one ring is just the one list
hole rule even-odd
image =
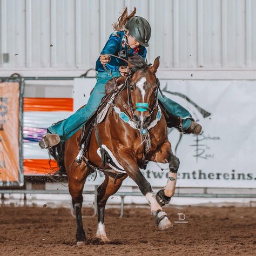
[[105, 176], [105, 180], [98, 187], [97, 207], [98, 207], [98, 228], [96, 237], [103, 242], [109, 242], [110, 240], [106, 236], [105, 225], [104, 225], [104, 213], [107, 199], [116, 193], [119, 187], [122, 185], [123, 180], [127, 177], [124, 174], [121, 178], [117, 178], [114, 182], [114, 178]]

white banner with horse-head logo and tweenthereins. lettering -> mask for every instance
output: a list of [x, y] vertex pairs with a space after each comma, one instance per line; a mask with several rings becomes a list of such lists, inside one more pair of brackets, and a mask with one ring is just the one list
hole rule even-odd
[[[91, 90], [93, 84], [92, 79], [89, 83], [86, 78], [80, 83], [78, 80], [75, 80], [75, 95], [81, 98], [84, 91], [88, 92], [86, 86]], [[173, 153], [180, 159], [177, 186], [255, 187], [255, 81], [161, 80], [160, 83], [164, 95], [183, 105], [203, 126], [199, 136], [169, 130]], [[143, 170], [152, 186], [164, 186], [167, 172], [167, 164], [156, 163]], [[100, 176], [93, 184], [101, 182], [104, 177]], [[91, 183], [93, 179], [89, 180]], [[135, 185], [129, 179], [124, 183]]]

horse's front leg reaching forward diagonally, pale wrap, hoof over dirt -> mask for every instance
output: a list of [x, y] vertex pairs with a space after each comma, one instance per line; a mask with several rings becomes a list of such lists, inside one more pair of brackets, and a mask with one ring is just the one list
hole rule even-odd
[[156, 198], [153, 197], [151, 185], [140, 172], [136, 159], [131, 156], [129, 152], [120, 153], [120, 156], [123, 157], [122, 160], [120, 159], [120, 163], [122, 163], [125, 171], [139, 186], [140, 191], [149, 202], [151, 214], [156, 217], [156, 224], [159, 230], [165, 230], [172, 227], [168, 215], [163, 211]]

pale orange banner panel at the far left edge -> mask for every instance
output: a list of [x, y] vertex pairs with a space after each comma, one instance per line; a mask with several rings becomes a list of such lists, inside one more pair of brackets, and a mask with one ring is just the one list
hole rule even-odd
[[19, 182], [19, 83], [0, 83], [0, 182]]

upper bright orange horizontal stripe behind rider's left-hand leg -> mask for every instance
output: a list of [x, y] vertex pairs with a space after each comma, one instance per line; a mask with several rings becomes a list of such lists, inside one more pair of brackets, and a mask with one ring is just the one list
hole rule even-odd
[[24, 98], [24, 111], [73, 111], [72, 98]]

